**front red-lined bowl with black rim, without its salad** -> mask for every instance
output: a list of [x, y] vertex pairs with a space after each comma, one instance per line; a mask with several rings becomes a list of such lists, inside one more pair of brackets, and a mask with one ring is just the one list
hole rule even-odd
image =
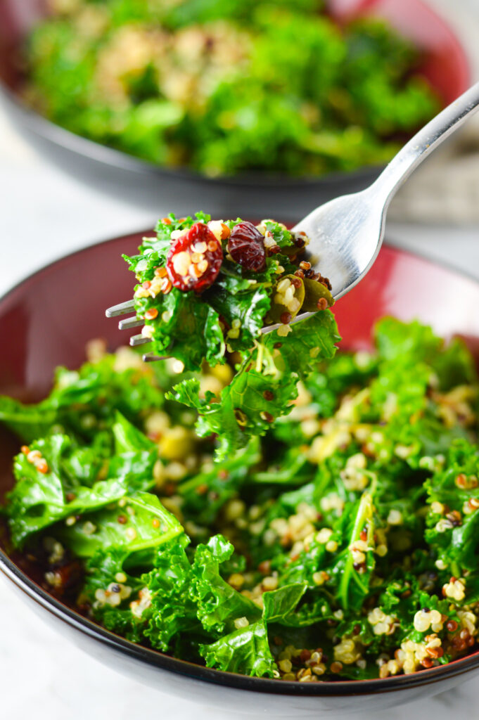
[[[76, 368], [91, 338], [114, 350], [127, 334], [104, 309], [129, 297], [131, 274], [120, 253], [134, 253], [145, 233], [73, 253], [24, 280], [0, 300], [0, 393], [38, 399], [58, 364]], [[344, 348], [369, 348], [377, 318], [395, 315], [430, 323], [444, 337], [463, 336], [479, 356], [479, 283], [409, 253], [382, 248], [369, 274], [336, 307]], [[0, 430], [0, 495], [12, 487], [19, 442]], [[169, 693], [230, 711], [303, 717], [319, 711], [374, 711], [449, 690], [479, 670], [479, 652], [449, 665], [383, 680], [287, 683], [246, 678], [175, 660], [127, 642], [52, 598], [22, 559], [0, 549], [0, 571], [19, 596], [73, 642], [120, 672]], [[61, 662], [61, 660], [58, 660]], [[238, 704], [238, 706], [240, 706]]]

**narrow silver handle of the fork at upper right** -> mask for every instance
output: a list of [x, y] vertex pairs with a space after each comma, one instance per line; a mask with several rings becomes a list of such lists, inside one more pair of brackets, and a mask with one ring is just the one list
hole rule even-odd
[[416, 132], [416, 135], [399, 150], [370, 188], [382, 196], [385, 207], [388, 207], [398, 188], [413, 170], [478, 109], [479, 82], [445, 107], [436, 117], [433, 117], [422, 130]]

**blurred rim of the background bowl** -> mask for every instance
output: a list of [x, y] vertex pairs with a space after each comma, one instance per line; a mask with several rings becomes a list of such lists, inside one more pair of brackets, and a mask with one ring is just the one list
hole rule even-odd
[[[446, 28], [449, 32], [449, 35], [451, 36], [450, 39], [457, 50], [457, 55], [460, 57], [460, 78], [457, 81], [457, 94], [464, 92], [470, 84], [470, 62], [467, 58], [465, 50], [462, 48], [462, 45], [457, 39], [454, 30], [449, 26], [449, 22], [447, 19], [442, 17], [440, 12], [437, 12], [434, 7], [430, 6], [423, 0], [416, 0], [416, 2], [418, 6], [427, 8], [429, 14], [439, 20], [439, 22], [441, 22], [444, 28]], [[357, 15], [360, 17], [362, 13], [367, 14], [370, 6], [374, 4], [374, 0], [359, 0], [352, 17], [356, 17]], [[337, 11], [337, 17], [341, 17], [341, 12], [339, 12], [339, 10]], [[342, 17], [344, 17], [344, 19], [349, 17], [347, 9], [345, 9], [342, 13]], [[385, 167], [384, 165], [371, 165], [364, 166], [351, 172], [338, 171], [321, 176], [291, 176], [280, 173], [269, 174], [261, 171], [248, 171], [231, 176], [220, 175], [209, 177], [199, 171], [195, 171], [194, 169], [187, 167], [169, 168], [160, 166], [148, 160], [143, 160], [130, 155], [123, 150], [116, 150], [108, 145], [97, 143], [96, 141], [84, 138], [84, 136], [78, 135], [75, 132], [66, 130], [66, 128], [48, 120], [34, 109], [31, 109], [24, 104], [18, 94], [1, 77], [0, 99], [4, 101], [6, 107], [9, 107], [12, 112], [17, 114], [17, 117], [20, 118], [25, 127], [33, 132], [34, 135], [37, 135], [38, 138], [46, 139], [54, 145], [58, 145], [60, 148], [70, 150], [83, 158], [103, 163], [111, 168], [146, 174], [151, 177], [198, 181], [213, 186], [222, 184], [231, 187], [251, 187], [251, 184], [255, 184], [259, 187], [278, 189], [317, 187], [318, 191], [321, 191], [322, 188], [331, 189], [336, 186], [341, 186], [341, 184], [344, 184], [346, 180], [352, 181], [353, 183], [354, 181], [357, 181], [365, 184], [367, 181], [373, 181]]]

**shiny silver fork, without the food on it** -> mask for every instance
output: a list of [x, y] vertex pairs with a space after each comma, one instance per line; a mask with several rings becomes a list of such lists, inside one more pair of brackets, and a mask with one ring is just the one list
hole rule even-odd
[[[293, 230], [302, 230], [310, 238], [305, 258], [315, 271], [328, 276], [335, 300], [349, 292], [377, 258], [384, 237], [386, 213], [398, 188], [438, 145], [478, 109], [479, 83], [476, 83], [419, 130], [367, 189], [336, 197], [317, 207], [295, 225]], [[134, 310], [133, 300], [127, 300], [109, 307], [106, 315], [107, 318], [115, 318]], [[298, 323], [310, 315], [313, 313], [303, 312], [292, 323]], [[140, 325], [143, 325], [143, 320], [136, 315], [119, 323], [120, 330]], [[280, 323], [267, 325], [262, 332], [271, 333], [279, 326]], [[130, 345], [133, 346], [149, 342], [151, 340], [142, 335], [130, 338]], [[147, 353], [143, 359], [150, 361], [163, 358]]]

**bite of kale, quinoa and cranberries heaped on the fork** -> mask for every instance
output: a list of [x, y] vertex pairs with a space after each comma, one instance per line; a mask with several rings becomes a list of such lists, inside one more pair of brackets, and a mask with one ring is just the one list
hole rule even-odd
[[[254, 354], [261, 328], [281, 325], [261, 343], [264, 355], [272, 338], [291, 332], [298, 313], [333, 305], [328, 278], [302, 259], [308, 244], [304, 232], [274, 220], [223, 222], [204, 212], [162, 218], [138, 255], [123, 256], [138, 280], [133, 300], [145, 321], [142, 340], [194, 370], [203, 359], [224, 364], [225, 348]], [[318, 322], [327, 328], [330, 316], [310, 320]]]

